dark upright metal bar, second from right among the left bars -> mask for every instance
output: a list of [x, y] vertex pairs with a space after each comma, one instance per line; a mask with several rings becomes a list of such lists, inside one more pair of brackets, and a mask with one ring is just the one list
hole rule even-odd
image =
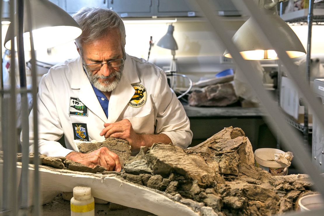
[[18, 65], [21, 90], [21, 128], [22, 128], [22, 168], [19, 184], [19, 203], [22, 207], [22, 215], [28, 214], [28, 166], [29, 166], [29, 122], [28, 122], [28, 100], [27, 83], [25, 68], [25, 49], [24, 49], [24, 2], [17, 0], [17, 50]]

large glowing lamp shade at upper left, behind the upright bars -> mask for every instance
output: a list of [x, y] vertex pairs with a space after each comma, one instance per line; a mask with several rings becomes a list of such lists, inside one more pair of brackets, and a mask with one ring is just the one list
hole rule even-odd
[[[29, 22], [26, 10], [26, 2], [24, 1], [24, 49], [30, 51], [29, 40]], [[46, 49], [57, 46], [62, 43], [69, 42], [81, 35], [81, 27], [77, 22], [62, 8], [56, 6], [48, 0], [29, 0], [32, 22], [32, 32], [34, 38], [34, 47], [37, 49]], [[5, 38], [5, 47], [11, 50], [11, 39], [16, 35], [11, 34], [13, 25], [10, 24]], [[15, 43], [17, 51], [17, 42]]]

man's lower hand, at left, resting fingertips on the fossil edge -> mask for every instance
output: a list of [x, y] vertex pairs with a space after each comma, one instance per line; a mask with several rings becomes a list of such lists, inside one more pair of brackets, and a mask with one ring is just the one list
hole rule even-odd
[[97, 165], [107, 168], [108, 171], [121, 171], [121, 163], [117, 154], [107, 147], [101, 147], [90, 153], [71, 152], [65, 156], [67, 160], [75, 161], [94, 168]]

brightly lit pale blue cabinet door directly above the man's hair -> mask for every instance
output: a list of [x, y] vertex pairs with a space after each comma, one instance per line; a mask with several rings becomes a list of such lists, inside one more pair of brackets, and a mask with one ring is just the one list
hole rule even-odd
[[108, 0], [65, 0], [66, 12], [74, 14], [82, 7], [108, 7]]

